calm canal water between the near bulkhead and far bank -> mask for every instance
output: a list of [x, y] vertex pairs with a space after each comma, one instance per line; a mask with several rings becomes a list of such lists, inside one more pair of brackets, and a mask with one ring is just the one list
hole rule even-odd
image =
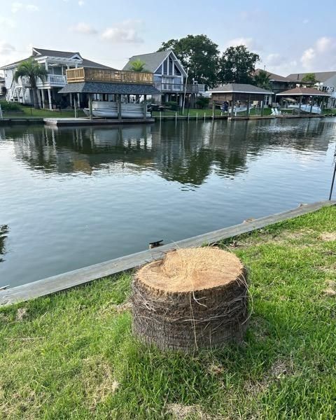
[[336, 120], [0, 127], [0, 286], [326, 200]]

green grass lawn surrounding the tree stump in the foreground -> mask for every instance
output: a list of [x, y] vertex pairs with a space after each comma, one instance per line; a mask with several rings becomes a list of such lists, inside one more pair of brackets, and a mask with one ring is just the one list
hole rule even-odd
[[131, 274], [0, 309], [1, 419], [335, 419], [336, 207], [226, 241], [245, 341], [183, 356], [131, 334]]

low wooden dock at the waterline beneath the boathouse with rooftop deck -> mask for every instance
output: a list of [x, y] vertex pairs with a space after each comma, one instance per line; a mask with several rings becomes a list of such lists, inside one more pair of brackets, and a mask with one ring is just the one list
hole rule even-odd
[[77, 125], [118, 125], [118, 124], [148, 124], [155, 123], [155, 118], [128, 118], [127, 120], [117, 120], [116, 118], [43, 118], [43, 123], [55, 127], [77, 126]]

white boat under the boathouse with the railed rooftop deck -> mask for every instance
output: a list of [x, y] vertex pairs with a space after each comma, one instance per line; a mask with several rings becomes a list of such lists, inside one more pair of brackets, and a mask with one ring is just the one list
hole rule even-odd
[[[90, 109], [84, 113], [90, 116]], [[100, 118], [118, 118], [118, 103], [107, 101], [92, 101], [92, 116]], [[121, 118], [144, 118], [144, 104], [121, 104]], [[147, 111], [146, 118], [151, 118]]]

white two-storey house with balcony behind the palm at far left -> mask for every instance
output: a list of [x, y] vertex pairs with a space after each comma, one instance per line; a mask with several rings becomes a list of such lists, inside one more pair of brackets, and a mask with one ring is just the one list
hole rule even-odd
[[[76, 67], [90, 67], [97, 69], [111, 69], [109, 66], [104, 66], [89, 59], [85, 59], [80, 55], [80, 52], [44, 50], [42, 48], [33, 48], [30, 57], [22, 59], [18, 62], [7, 64], [1, 67], [4, 72], [6, 99], [8, 101], [21, 102], [22, 104], [32, 104], [34, 102], [29, 80], [22, 80], [18, 82], [14, 79], [14, 74], [18, 65], [27, 60], [34, 58], [36, 62], [45, 66], [48, 71], [48, 76], [45, 80], [38, 79], [38, 102], [41, 108], [53, 109], [55, 106], [73, 105], [72, 94], [59, 94], [58, 91], [66, 85], [66, 69], [73, 69]], [[80, 104], [78, 104], [80, 105]]]

